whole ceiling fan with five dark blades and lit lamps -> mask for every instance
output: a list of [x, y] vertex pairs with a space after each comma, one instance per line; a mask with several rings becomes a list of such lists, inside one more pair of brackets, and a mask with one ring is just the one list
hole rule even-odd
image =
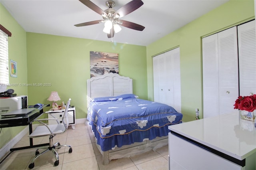
[[91, 10], [97, 12], [103, 17], [103, 20], [96, 20], [96, 21], [90, 21], [90, 22], [84, 22], [81, 24], [76, 24], [74, 26], [81, 27], [81, 26], [90, 26], [93, 24], [99, 24], [99, 23], [105, 23], [103, 31], [107, 33], [108, 38], [113, 38], [114, 33], [117, 33], [121, 30], [121, 26], [124, 26], [126, 28], [130, 28], [133, 30], [142, 31], [144, 30], [144, 26], [141, 26], [139, 24], [135, 24], [133, 22], [129, 22], [126, 20], [120, 20], [123, 16], [126, 16], [127, 14], [130, 14], [131, 12], [135, 11], [136, 9], [140, 8], [144, 3], [141, 0], [132, 0], [122, 6], [119, 10], [114, 10], [113, 7], [115, 6], [115, 2], [112, 0], [106, 1], [106, 6], [108, 6], [108, 9], [102, 10], [100, 7], [96, 6], [93, 2], [90, 0], [79, 0], [84, 5], [86, 5]]

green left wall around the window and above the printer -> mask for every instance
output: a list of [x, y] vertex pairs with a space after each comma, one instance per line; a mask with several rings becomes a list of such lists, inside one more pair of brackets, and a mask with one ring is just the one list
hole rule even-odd
[[[10, 77], [10, 83], [26, 82], [27, 76], [27, 53], [26, 53], [26, 32], [25, 30], [12, 18], [9, 12], [0, 4], [0, 24], [12, 33], [8, 38], [8, 55], [10, 59], [17, 62], [17, 77]], [[10, 64], [9, 64], [10, 65]], [[28, 95], [28, 88], [23, 86], [7, 87], [6, 89], [14, 89], [17, 95]], [[0, 148], [16, 136], [25, 127], [11, 127], [2, 128], [0, 133]]]

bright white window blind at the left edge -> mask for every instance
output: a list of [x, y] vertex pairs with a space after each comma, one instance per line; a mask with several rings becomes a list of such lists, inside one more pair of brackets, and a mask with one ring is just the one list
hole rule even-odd
[[8, 35], [0, 30], [0, 84], [9, 83], [8, 71]]

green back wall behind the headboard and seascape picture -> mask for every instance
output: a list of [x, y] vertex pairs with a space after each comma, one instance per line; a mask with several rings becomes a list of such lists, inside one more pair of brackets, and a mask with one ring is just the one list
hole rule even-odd
[[64, 103], [72, 99], [76, 119], [86, 118], [90, 51], [118, 53], [119, 74], [131, 77], [134, 93], [147, 99], [145, 46], [27, 33], [28, 83], [51, 84], [29, 86], [29, 103], [52, 103], [47, 98], [51, 91], [58, 91]]

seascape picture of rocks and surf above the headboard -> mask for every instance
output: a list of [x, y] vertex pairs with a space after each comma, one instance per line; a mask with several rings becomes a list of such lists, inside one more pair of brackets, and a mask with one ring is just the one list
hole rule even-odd
[[90, 51], [91, 78], [105, 73], [119, 73], [118, 53]]

